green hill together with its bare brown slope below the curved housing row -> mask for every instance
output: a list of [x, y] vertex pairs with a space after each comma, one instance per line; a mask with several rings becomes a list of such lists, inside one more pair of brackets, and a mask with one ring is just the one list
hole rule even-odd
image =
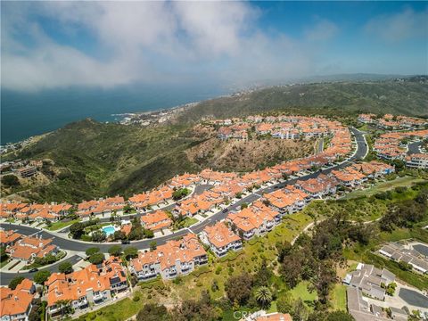
[[85, 119], [46, 135], [14, 155], [45, 160], [44, 166], [27, 183], [14, 189], [2, 187], [2, 195], [37, 202], [80, 202], [115, 194], [128, 197], [161, 185], [176, 174], [207, 167], [257, 169], [306, 156], [314, 152], [314, 145], [315, 141], [276, 139], [249, 144], [220, 142], [212, 133], [187, 126], [141, 128]]

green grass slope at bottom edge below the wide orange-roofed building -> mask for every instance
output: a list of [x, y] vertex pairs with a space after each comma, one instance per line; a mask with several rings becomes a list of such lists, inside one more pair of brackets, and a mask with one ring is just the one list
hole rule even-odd
[[117, 321], [126, 320], [138, 313], [143, 308], [144, 301], [141, 299], [138, 301], [126, 298], [119, 300], [119, 302], [111, 304], [103, 309], [99, 309], [95, 312], [88, 313], [84, 316], [78, 317], [78, 320], [96, 320], [96, 321]]

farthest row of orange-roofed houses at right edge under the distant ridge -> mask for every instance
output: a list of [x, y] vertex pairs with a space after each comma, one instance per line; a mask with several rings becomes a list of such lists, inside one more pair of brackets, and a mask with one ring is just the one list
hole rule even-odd
[[362, 123], [373, 124], [377, 128], [388, 130], [402, 130], [424, 128], [428, 126], [427, 119], [420, 119], [408, 116], [393, 116], [385, 114], [383, 117], [378, 117], [373, 113], [360, 114], [358, 120]]

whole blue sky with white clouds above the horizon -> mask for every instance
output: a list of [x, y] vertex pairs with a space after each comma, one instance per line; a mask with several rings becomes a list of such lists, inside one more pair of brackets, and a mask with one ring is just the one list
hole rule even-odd
[[1, 2], [2, 88], [427, 74], [427, 2]]

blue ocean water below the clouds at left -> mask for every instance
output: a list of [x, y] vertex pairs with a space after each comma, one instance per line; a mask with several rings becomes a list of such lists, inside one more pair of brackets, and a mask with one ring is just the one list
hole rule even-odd
[[156, 111], [230, 92], [210, 85], [69, 88], [22, 93], [2, 89], [1, 144], [44, 134], [79, 119], [113, 121], [111, 114]]

